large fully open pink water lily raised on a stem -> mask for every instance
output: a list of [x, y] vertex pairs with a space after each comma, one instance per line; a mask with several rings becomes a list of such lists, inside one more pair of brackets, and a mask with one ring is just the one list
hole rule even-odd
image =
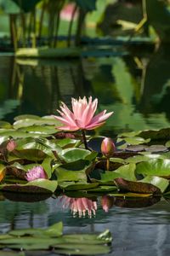
[[63, 126], [57, 127], [59, 130], [64, 131], [77, 131], [77, 130], [94, 130], [101, 125], [105, 124], [113, 112], [106, 113], [106, 110], [94, 116], [98, 106], [98, 99], [92, 100], [92, 96], [87, 98], [84, 96], [82, 99], [72, 98], [72, 112], [64, 102], [60, 105], [58, 110], [60, 116], [54, 116], [58, 119]]

